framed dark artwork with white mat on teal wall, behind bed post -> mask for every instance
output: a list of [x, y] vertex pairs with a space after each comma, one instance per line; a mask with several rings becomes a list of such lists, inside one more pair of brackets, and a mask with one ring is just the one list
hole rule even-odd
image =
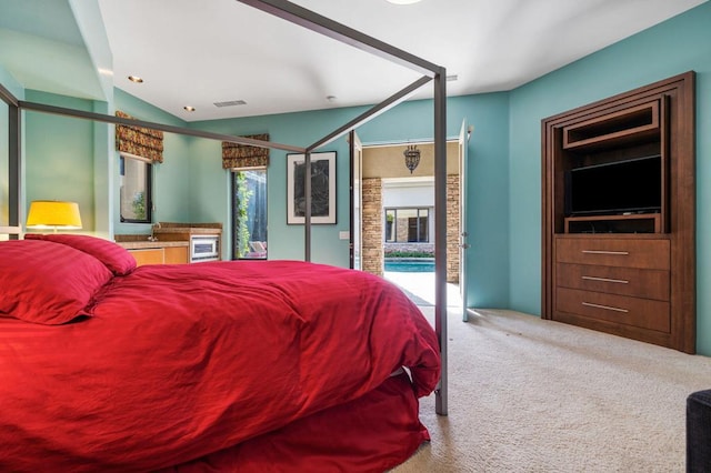
[[[287, 154], [287, 223], [303, 224], [303, 154]], [[311, 153], [311, 223], [336, 223], [336, 151]]]

